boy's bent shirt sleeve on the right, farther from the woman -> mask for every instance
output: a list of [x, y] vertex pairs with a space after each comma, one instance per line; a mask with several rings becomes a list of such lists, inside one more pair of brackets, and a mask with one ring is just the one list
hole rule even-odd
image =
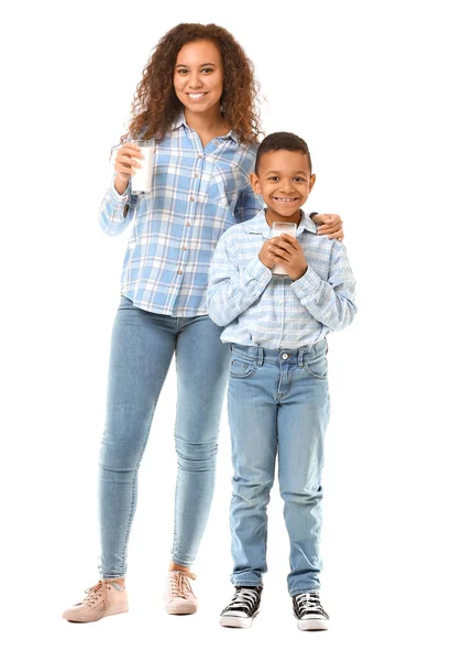
[[291, 289], [311, 316], [330, 330], [342, 330], [353, 322], [357, 311], [355, 279], [345, 247], [339, 241], [333, 245], [328, 282], [309, 264], [305, 274], [293, 282]]

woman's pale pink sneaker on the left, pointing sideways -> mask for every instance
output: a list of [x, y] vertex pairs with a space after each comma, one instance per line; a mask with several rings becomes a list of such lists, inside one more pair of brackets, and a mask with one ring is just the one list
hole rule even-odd
[[89, 587], [86, 597], [63, 613], [69, 622], [96, 622], [109, 615], [119, 615], [129, 610], [125, 587], [115, 581], [99, 581]]

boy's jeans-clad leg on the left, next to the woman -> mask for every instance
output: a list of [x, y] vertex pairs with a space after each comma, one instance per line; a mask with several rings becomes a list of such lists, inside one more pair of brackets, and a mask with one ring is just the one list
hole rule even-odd
[[267, 571], [267, 503], [277, 449], [278, 369], [262, 364], [256, 347], [234, 347], [229, 380], [229, 422], [233, 460], [230, 509], [235, 586], [262, 584]]

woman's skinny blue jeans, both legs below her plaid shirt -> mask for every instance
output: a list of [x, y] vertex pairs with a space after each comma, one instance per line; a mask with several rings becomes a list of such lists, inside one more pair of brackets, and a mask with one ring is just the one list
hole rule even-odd
[[[196, 557], [212, 500], [220, 414], [230, 348], [208, 316], [172, 317], [122, 297], [111, 343], [107, 418], [100, 451], [99, 502], [103, 578], [124, 576], [136, 507], [137, 472], [153, 413], [176, 356], [174, 562]], [[154, 443], [165, 443], [152, 431]]]

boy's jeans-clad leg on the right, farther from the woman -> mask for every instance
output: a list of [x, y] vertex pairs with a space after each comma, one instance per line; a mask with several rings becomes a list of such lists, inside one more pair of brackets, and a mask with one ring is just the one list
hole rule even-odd
[[330, 413], [326, 343], [298, 351], [291, 388], [278, 410], [278, 476], [290, 542], [291, 596], [320, 585], [321, 473]]

